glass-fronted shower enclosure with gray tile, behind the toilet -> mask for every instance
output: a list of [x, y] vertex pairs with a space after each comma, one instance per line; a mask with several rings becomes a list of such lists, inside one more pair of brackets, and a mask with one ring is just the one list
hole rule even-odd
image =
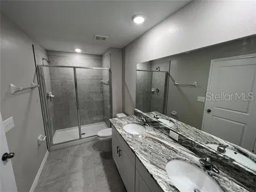
[[50, 150], [110, 127], [109, 68], [38, 65], [37, 72]]

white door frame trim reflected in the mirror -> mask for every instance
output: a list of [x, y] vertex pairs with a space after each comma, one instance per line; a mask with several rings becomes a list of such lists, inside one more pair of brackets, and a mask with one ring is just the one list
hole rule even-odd
[[[208, 83], [207, 83], [207, 89], [206, 89], [206, 93], [209, 92], [209, 86], [211, 83], [211, 78], [212, 78], [212, 68], [213, 68], [213, 64], [214, 62], [218, 62], [218, 61], [228, 61], [228, 60], [235, 60], [235, 59], [245, 59], [245, 58], [253, 58], [256, 57], [256, 54], [246, 54], [246, 55], [238, 55], [238, 56], [233, 56], [233, 57], [227, 57], [227, 58], [219, 58], [219, 59], [212, 59], [211, 60], [211, 66], [210, 66], [210, 71], [209, 71], [209, 77], [208, 77]], [[206, 94], [205, 93], [205, 94]], [[201, 130], [204, 131], [204, 120], [205, 120], [205, 111], [207, 109], [207, 101], [205, 100], [204, 103], [204, 115], [203, 115], [203, 121], [202, 121], [202, 127]]]

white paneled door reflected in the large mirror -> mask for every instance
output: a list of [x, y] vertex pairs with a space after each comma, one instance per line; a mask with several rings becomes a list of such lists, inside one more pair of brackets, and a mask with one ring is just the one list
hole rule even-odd
[[[255, 75], [255, 54], [212, 60], [203, 131], [253, 150], [256, 138]], [[242, 93], [244, 99], [239, 98]], [[249, 93], [254, 100], [246, 100], [252, 99]], [[220, 97], [213, 94], [220, 94]]]

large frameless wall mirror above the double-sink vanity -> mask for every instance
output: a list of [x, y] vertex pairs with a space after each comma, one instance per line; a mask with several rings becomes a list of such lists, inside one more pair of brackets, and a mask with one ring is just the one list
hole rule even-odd
[[136, 108], [256, 171], [256, 36], [138, 63]]

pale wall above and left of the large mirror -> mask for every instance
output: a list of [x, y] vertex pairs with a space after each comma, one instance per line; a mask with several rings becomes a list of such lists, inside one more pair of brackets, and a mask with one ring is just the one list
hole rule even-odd
[[192, 1], [123, 49], [123, 109], [133, 114], [137, 63], [256, 34], [256, 1]]

